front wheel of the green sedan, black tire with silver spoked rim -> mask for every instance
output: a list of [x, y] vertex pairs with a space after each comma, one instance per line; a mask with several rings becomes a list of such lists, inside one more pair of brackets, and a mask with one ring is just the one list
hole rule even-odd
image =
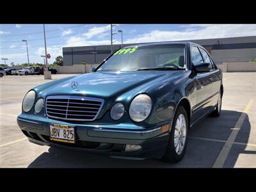
[[[182, 131], [182, 128], [179, 129], [179, 122], [177, 123], [178, 118], [179, 118], [179, 121], [180, 119], [184, 121], [184, 124], [183, 124], [184, 126], [181, 125], [181, 127], [183, 127], [183, 131]], [[175, 140], [174, 140], [175, 136], [178, 136], [178, 139], [176, 140], [177, 144], [175, 144]], [[182, 138], [184, 138], [184, 140], [182, 140]], [[166, 148], [166, 152], [164, 154], [163, 160], [168, 161], [170, 163], [179, 162], [185, 154], [187, 140], [188, 140], [188, 115], [187, 115], [186, 109], [183, 106], [179, 106], [173, 118], [172, 130], [170, 132], [170, 139], [168, 141], [168, 146]]]

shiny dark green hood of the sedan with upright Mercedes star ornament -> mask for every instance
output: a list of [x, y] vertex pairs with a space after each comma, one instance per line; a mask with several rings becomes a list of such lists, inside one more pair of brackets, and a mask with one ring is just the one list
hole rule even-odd
[[[87, 97], [108, 98], [122, 95], [130, 90], [137, 92], [147, 90], [166, 77], [175, 77], [183, 73], [173, 71], [140, 71], [140, 72], [92, 72], [81, 76], [58, 81], [51, 86], [38, 86], [36, 90], [47, 95], [85, 95]], [[54, 83], [54, 82], [52, 82]], [[72, 88], [72, 83], [77, 84]]]

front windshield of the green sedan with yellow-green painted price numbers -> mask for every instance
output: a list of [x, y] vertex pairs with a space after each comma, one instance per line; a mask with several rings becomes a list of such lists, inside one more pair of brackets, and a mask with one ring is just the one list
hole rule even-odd
[[146, 45], [116, 51], [97, 71], [184, 68], [185, 45]]

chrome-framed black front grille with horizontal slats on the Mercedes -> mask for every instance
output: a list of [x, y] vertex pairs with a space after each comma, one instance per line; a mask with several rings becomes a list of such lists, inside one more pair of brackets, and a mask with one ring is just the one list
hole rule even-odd
[[46, 115], [63, 120], [93, 121], [99, 115], [103, 99], [80, 96], [49, 96]]

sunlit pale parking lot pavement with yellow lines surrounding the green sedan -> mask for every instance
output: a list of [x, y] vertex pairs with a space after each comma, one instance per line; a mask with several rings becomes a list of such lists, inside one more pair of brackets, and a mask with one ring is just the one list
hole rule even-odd
[[[57, 74], [52, 79], [73, 75]], [[189, 131], [186, 154], [177, 164], [158, 159], [112, 159], [30, 143], [16, 122], [22, 99], [29, 88], [52, 80], [44, 80], [44, 76], [4, 76], [0, 79], [0, 167], [255, 168], [256, 72], [230, 72], [223, 76], [221, 116], [207, 117]]]

